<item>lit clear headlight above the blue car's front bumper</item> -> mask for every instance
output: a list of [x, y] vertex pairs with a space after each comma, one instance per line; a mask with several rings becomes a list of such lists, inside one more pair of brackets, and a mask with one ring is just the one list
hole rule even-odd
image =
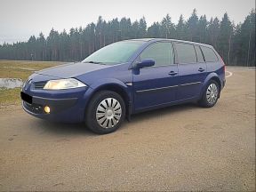
[[75, 78], [50, 80], [44, 85], [45, 90], [62, 90], [85, 87], [86, 84], [76, 80]]

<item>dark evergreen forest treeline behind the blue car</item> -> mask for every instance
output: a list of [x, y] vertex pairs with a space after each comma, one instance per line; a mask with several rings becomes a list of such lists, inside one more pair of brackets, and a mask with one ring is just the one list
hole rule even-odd
[[52, 28], [49, 36], [42, 33], [30, 36], [28, 42], [0, 45], [0, 59], [4, 60], [83, 60], [92, 52], [114, 42], [145, 37], [175, 38], [212, 44], [228, 65], [255, 66], [255, 10], [243, 23], [235, 25], [225, 13], [220, 19], [207, 20], [197, 16], [196, 9], [188, 20], [180, 15], [177, 24], [167, 14], [161, 22], [147, 27], [145, 18], [132, 22], [129, 18], [103, 20], [90, 23], [85, 28]]

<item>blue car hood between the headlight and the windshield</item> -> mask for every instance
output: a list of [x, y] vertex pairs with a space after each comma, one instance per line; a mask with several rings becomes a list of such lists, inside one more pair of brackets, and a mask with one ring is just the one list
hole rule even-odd
[[60, 66], [56, 66], [53, 68], [45, 68], [43, 70], [36, 71], [35, 73], [44, 75], [44, 76], [70, 78], [70, 77], [80, 76], [95, 70], [99, 70], [101, 68], [109, 68], [109, 67], [110, 66], [108, 65], [77, 62], [77, 63], [62, 64]]

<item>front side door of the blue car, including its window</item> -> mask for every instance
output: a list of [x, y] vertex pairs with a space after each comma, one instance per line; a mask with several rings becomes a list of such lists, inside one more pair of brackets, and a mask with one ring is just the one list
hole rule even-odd
[[134, 109], [140, 111], [176, 100], [178, 90], [178, 66], [174, 63], [171, 42], [149, 44], [140, 53], [137, 62], [155, 60], [155, 66], [132, 69]]

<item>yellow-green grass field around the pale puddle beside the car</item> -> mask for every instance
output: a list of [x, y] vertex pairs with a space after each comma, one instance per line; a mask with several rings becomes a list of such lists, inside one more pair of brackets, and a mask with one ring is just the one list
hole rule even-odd
[[[31, 61], [31, 60], [0, 60], [0, 78], [20, 78], [24, 82], [34, 71], [60, 65], [57, 61]], [[20, 88], [0, 88], [1, 106], [11, 106], [20, 103]]]

